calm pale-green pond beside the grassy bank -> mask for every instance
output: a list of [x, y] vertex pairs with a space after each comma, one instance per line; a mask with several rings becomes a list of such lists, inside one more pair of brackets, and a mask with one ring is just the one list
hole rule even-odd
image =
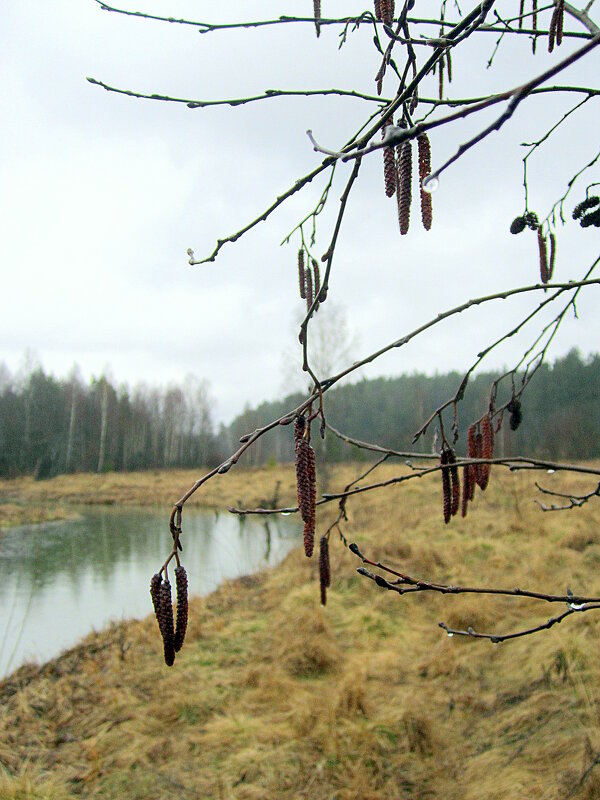
[[[274, 565], [300, 541], [291, 519], [187, 511], [190, 594]], [[0, 538], [0, 677], [43, 662], [111, 620], [152, 612], [151, 576], [169, 553], [168, 513], [85, 509], [81, 519], [13, 528]]]

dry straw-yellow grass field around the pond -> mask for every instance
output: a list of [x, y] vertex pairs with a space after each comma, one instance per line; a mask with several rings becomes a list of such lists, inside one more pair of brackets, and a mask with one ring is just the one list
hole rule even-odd
[[[385, 465], [382, 475], [402, 469]], [[354, 472], [340, 468], [334, 483]], [[0, 499], [168, 507], [192, 479], [12, 482]], [[594, 485], [543, 479], [568, 491]], [[282, 502], [292, 500], [293, 472], [281, 468], [233, 470], [203, 502], [260, 502], [277, 480]], [[532, 476], [494, 468], [467, 519], [445, 526], [439, 480], [416, 480], [353, 498], [344, 532], [374, 559], [435, 581], [600, 594], [600, 504], [544, 514], [534, 496]], [[320, 510], [318, 527], [334, 513]], [[330, 550], [325, 608], [316, 560], [297, 550], [195, 599], [172, 669], [148, 617], [0, 683], [0, 798], [600, 796], [599, 615], [500, 645], [451, 639], [439, 621], [503, 633], [562, 608], [400, 598], [357, 575], [339, 539]]]

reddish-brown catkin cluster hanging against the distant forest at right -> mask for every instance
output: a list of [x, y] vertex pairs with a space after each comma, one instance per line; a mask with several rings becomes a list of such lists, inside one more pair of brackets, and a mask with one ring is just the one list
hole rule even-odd
[[[520, 403], [518, 413], [520, 413]], [[470, 426], [467, 434], [467, 457], [481, 459], [494, 457], [494, 429], [489, 414], [485, 414]], [[442, 510], [444, 522], [448, 524], [451, 518], [458, 513], [459, 506], [461, 515], [467, 516], [468, 504], [475, 496], [475, 487], [479, 486], [481, 491], [485, 491], [487, 488], [491, 465], [466, 464], [463, 467], [462, 503], [456, 454], [451, 447], [442, 448], [440, 466], [442, 467]]]

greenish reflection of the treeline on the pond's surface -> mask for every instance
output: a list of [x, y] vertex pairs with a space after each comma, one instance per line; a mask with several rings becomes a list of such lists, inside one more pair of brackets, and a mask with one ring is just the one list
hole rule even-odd
[[[273, 550], [280, 549], [272, 540], [295, 532], [288, 520], [240, 526], [239, 518], [194, 513], [186, 519], [184, 547], [192, 570], [212, 583], [269, 563]], [[162, 562], [168, 535], [164, 514], [137, 509], [94, 509], [81, 520], [12, 531], [0, 543], [0, 599], [15, 582], [36, 591], [68, 582], [77, 591], [90, 573], [104, 586], [116, 568], [150, 575]]]

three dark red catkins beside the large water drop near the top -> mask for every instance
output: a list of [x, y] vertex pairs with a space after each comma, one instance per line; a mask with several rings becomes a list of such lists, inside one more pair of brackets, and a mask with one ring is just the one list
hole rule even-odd
[[[382, 128], [385, 139], [386, 129], [392, 124], [387, 119]], [[421, 220], [426, 231], [431, 229], [433, 209], [431, 194], [423, 189], [423, 180], [431, 172], [431, 145], [426, 133], [417, 136], [419, 151], [419, 185], [421, 189]], [[396, 195], [398, 204], [398, 223], [400, 233], [408, 233], [410, 225], [410, 206], [412, 202], [412, 142], [407, 140], [398, 147], [383, 148], [383, 178], [388, 197]]]

